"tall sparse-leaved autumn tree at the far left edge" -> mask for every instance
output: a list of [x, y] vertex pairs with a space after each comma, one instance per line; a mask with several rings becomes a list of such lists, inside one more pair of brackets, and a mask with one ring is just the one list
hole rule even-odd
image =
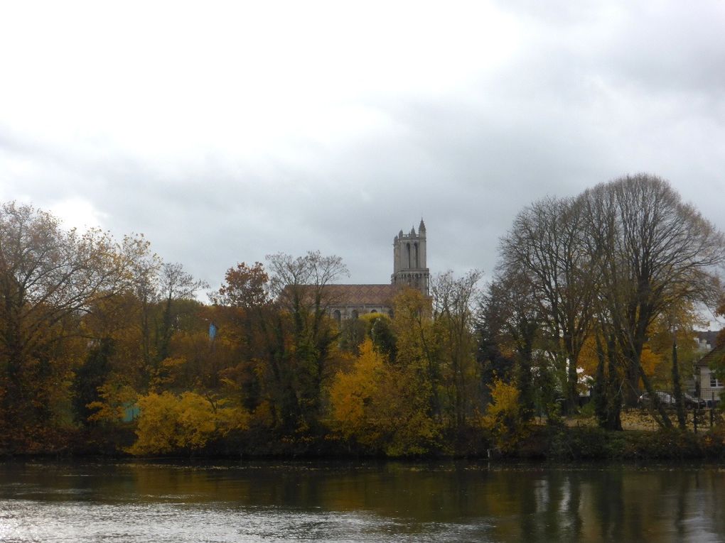
[[77, 335], [78, 316], [91, 303], [128, 286], [125, 264], [106, 232], [64, 230], [32, 206], [1, 206], [0, 432], [6, 439], [32, 440], [26, 430], [49, 423], [48, 395], [70, 383], [62, 345]]

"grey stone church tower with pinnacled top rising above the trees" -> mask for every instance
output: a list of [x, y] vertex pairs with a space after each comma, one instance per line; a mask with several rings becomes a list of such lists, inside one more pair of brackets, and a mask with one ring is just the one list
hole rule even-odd
[[426, 224], [421, 219], [418, 234], [415, 228], [409, 234], [399, 234], [393, 240], [393, 274], [390, 282], [395, 286], [417, 288], [424, 296], [430, 295], [431, 271], [426, 265]]

